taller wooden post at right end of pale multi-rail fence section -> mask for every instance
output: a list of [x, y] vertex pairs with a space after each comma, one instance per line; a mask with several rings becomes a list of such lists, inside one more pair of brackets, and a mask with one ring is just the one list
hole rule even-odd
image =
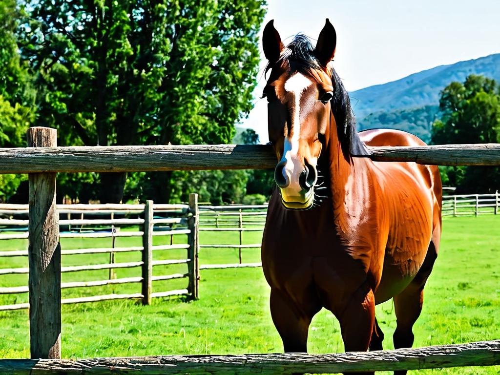
[[189, 212], [190, 216], [187, 219], [187, 226], [190, 233], [187, 237], [189, 248], [187, 249], [187, 258], [190, 259], [187, 263], [187, 273], [189, 275], [189, 285], [187, 290], [191, 293], [193, 299], [198, 299], [198, 284], [199, 284], [199, 263], [198, 263], [198, 194], [189, 194]]

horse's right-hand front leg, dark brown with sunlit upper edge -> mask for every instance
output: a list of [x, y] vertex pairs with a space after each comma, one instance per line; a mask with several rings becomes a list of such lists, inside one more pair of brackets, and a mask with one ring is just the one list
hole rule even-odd
[[[364, 283], [352, 295], [338, 317], [345, 351], [366, 351], [375, 324], [375, 297]], [[349, 374], [373, 374], [374, 372], [349, 372]]]

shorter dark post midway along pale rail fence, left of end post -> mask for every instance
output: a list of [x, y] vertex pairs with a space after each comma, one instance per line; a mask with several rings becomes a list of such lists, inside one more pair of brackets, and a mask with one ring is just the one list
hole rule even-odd
[[144, 204], [144, 224], [142, 234], [142, 304], [151, 304], [153, 274], [153, 201]]

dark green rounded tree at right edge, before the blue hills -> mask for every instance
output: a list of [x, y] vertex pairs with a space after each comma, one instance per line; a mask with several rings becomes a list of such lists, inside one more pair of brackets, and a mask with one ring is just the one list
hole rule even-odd
[[[469, 75], [463, 83], [451, 82], [441, 92], [439, 109], [432, 143], [500, 142], [500, 87], [494, 79]], [[441, 172], [457, 192], [495, 191], [500, 186], [498, 167], [444, 167]]]

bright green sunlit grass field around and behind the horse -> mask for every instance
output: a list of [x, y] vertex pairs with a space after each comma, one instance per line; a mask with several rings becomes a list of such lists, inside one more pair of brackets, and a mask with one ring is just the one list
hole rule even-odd
[[[414, 327], [414, 346], [500, 338], [500, 217], [487, 215], [445, 218], [439, 256], [425, 288], [424, 307]], [[245, 243], [260, 240], [245, 232]], [[155, 244], [168, 237], [154, 237]], [[234, 243], [237, 232], [200, 232], [201, 243]], [[5, 246], [6, 241], [2, 241]], [[109, 245], [106, 240], [62, 240], [62, 248]], [[139, 244], [118, 238], [117, 246]], [[22, 248], [25, 242], [9, 241]], [[185, 250], [158, 251], [155, 259], [185, 257]], [[259, 261], [257, 249], [243, 249], [243, 261]], [[139, 260], [139, 254], [117, 254], [115, 261]], [[63, 265], [108, 261], [108, 255], [63, 256]], [[0, 258], [0, 268], [26, 266], [25, 257]], [[200, 262], [237, 262], [237, 250], [201, 249]], [[182, 271], [184, 266], [154, 267], [154, 274]], [[185, 269], [184, 269], [185, 270]], [[117, 269], [118, 277], [139, 275], [139, 268]], [[102, 279], [107, 270], [70, 272], [62, 281]], [[27, 275], [0, 275], [0, 286], [22, 285]], [[183, 288], [187, 280], [153, 283], [153, 291]], [[62, 297], [138, 292], [139, 284], [63, 289]], [[156, 298], [149, 306], [134, 300], [62, 306], [62, 356], [129, 356], [159, 354], [262, 353], [282, 351], [268, 312], [269, 288], [260, 268], [202, 270], [200, 299]], [[1, 295], [0, 304], [27, 301], [27, 293]], [[384, 348], [392, 348], [395, 317], [390, 301], [377, 306], [385, 333]], [[0, 312], [0, 357], [29, 356], [27, 310]], [[309, 329], [311, 353], [343, 351], [339, 326], [328, 311], [320, 311]], [[438, 371], [438, 372], [437, 372]], [[413, 371], [417, 373], [417, 371]], [[418, 373], [498, 374], [500, 367], [426, 370]]]

